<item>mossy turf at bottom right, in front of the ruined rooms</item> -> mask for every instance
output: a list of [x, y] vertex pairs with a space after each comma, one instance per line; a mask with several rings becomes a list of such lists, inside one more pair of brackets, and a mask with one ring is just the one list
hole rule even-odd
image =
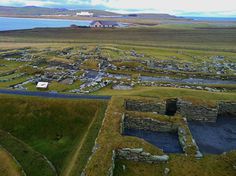
[[[207, 155], [201, 160], [183, 155], [172, 155], [166, 164], [147, 164], [132, 161], [117, 161], [115, 176], [163, 175], [165, 168], [170, 169], [170, 176], [231, 176], [236, 173], [233, 165], [236, 152], [223, 155]], [[125, 166], [125, 170], [123, 170]]]

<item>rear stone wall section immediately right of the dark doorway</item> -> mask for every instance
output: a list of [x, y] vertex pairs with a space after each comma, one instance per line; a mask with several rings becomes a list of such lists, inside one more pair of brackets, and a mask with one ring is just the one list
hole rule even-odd
[[218, 115], [217, 107], [211, 108], [206, 105], [195, 105], [190, 101], [178, 100], [178, 112], [187, 120], [215, 122]]

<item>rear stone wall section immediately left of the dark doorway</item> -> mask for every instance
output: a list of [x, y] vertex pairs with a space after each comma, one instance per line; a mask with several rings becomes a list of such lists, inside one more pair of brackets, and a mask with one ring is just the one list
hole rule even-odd
[[165, 114], [166, 111], [165, 102], [158, 101], [126, 100], [125, 108], [128, 111], [156, 112], [158, 114]]

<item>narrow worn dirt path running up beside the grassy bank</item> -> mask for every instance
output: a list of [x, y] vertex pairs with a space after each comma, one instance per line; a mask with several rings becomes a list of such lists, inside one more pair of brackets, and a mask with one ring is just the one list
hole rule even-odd
[[72, 153], [72, 158], [71, 158], [71, 160], [67, 163], [67, 167], [63, 170], [63, 172], [61, 173], [61, 176], [70, 176], [70, 175], [72, 174], [73, 169], [74, 169], [75, 167], [77, 167], [76, 161], [77, 161], [77, 159], [78, 159], [78, 157], [79, 157], [80, 150], [81, 150], [81, 148], [83, 147], [83, 144], [84, 144], [84, 142], [85, 142], [85, 140], [86, 140], [86, 138], [87, 138], [87, 136], [88, 136], [88, 134], [89, 134], [90, 128], [93, 126], [93, 124], [94, 124], [94, 122], [95, 122], [95, 120], [96, 120], [96, 118], [97, 118], [98, 112], [99, 112], [99, 110], [96, 111], [93, 120], [92, 120], [91, 123], [89, 124], [88, 129], [87, 129], [86, 133], [84, 134], [82, 140], [79, 141], [79, 145], [78, 145], [76, 151], [74, 151], [74, 152]]

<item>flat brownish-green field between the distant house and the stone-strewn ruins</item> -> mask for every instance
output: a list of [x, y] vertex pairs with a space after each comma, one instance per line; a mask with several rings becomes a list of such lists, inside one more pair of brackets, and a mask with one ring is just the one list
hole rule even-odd
[[0, 32], [0, 42], [110, 43], [170, 48], [236, 51], [236, 29], [33, 29]]

